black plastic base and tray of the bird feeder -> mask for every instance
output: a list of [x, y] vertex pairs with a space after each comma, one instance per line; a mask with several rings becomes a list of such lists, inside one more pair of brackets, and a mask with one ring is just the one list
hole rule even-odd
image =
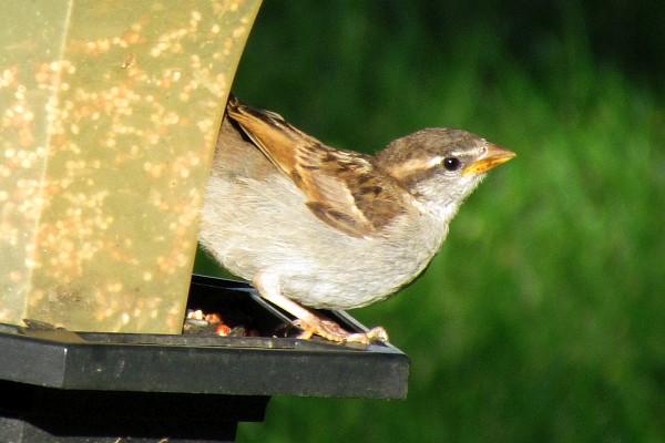
[[[407, 394], [409, 360], [397, 348], [279, 336], [291, 319], [245, 284], [194, 276], [190, 306], [262, 337], [0, 323], [0, 442], [233, 442], [237, 423], [264, 420], [272, 395]], [[325, 315], [364, 330], [346, 312]]]

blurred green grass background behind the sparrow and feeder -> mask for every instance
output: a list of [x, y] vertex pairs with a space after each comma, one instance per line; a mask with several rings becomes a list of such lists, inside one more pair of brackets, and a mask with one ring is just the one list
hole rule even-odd
[[241, 442], [665, 441], [665, 7], [628, 3], [265, 1], [245, 102], [339, 147], [451, 126], [519, 156], [351, 312], [408, 400], [275, 398]]

